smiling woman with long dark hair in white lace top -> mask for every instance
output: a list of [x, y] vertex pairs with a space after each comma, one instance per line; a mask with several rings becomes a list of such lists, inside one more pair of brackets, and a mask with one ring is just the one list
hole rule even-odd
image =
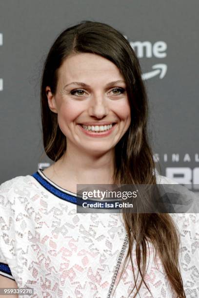
[[33, 297], [198, 297], [197, 214], [76, 212], [77, 184], [174, 183], [155, 172], [128, 41], [98, 22], [63, 31], [44, 64], [41, 117], [55, 163], [1, 185], [1, 280]]

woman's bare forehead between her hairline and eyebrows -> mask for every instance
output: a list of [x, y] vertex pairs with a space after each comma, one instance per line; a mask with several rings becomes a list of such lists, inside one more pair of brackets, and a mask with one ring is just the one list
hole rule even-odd
[[78, 53], [68, 56], [58, 71], [60, 83], [66, 81], [101, 81], [124, 79], [119, 68], [110, 60], [91, 53]]

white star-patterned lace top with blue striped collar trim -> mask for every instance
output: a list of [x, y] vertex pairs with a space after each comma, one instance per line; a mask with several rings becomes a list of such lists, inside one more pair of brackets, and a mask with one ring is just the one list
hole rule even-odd
[[[175, 183], [158, 179], [157, 183]], [[15, 279], [19, 287], [34, 288], [34, 295], [20, 297], [107, 297], [126, 235], [122, 215], [80, 214], [74, 199], [75, 194], [56, 186], [40, 170], [34, 177], [19, 176], [1, 184], [0, 274]], [[186, 297], [197, 298], [199, 213], [171, 216], [181, 235], [179, 262]], [[126, 252], [127, 248], [122, 260]], [[145, 281], [153, 297], [176, 297], [159, 258], [153, 256], [150, 244]], [[127, 298], [134, 287], [131, 263], [114, 292], [120, 271], [111, 297]], [[139, 295], [152, 297], [144, 283]]]

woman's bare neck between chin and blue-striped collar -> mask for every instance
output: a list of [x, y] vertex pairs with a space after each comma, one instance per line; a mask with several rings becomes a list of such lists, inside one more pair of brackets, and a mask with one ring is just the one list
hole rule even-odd
[[114, 149], [88, 154], [67, 144], [65, 154], [53, 165], [54, 174], [71, 184], [113, 184]]

